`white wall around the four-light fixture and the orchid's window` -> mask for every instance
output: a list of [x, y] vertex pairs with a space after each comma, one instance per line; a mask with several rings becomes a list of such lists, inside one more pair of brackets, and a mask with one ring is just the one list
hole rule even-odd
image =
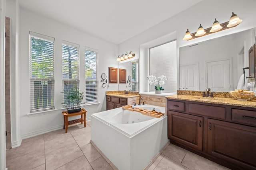
[[[148, 76], [146, 73], [142, 72], [142, 70], [147, 70], [147, 68], [145, 68], [147, 67], [147, 53], [145, 52], [145, 49], [143, 49], [143, 52], [139, 53], [141, 45], [153, 41], [154, 39], [159, 39], [159, 37], [163, 37], [164, 35], [176, 32], [177, 64], [179, 64], [180, 47], [256, 27], [255, 6], [255, 0], [215, 0], [214, 2], [212, 0], [204, 0], [186, 11], [183, 11], [119, 44], [118, 53], [119, 51], [128, 51], [130, 49], [140, 54], [140, 80], [144, 80], [144, 78]], [[183, 40], [186, 29], [189, 29], [190, 33], [194, 33], [197, 31], [200, 23], [204, 28], [211, 27], [215, 18], [220, 23], [224, 23], [230, 19], [232, 12], [237, 14], [240, 19], [243, 20], [237, 27], [190, 41]], [[172, 39], [168, 39], [168, 41], [170, 40]], [[167, 42], [166, 39], [163, 39], [162, 42], [159, 43], [164, 43], [164, 41]], [[179, 75], [179, 68], [177, 68], [177, 75]], [[147, 86], [147, 81], [140, 81], [140, 92], [146, 92]]]

